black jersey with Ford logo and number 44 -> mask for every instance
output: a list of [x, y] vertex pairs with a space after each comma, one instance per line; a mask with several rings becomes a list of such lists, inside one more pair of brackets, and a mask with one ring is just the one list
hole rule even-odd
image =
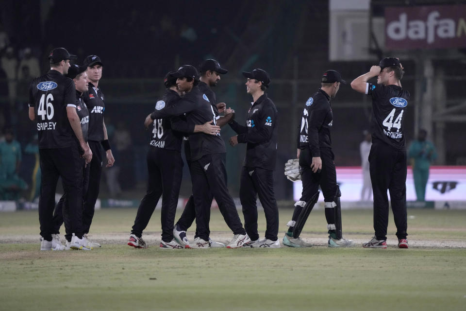
[[409, 92], [396, 85], [366, 84], [366, 95], [372, 97], [372, 142], [383, 141], [397, 149], [405, 149], [403, 113]]

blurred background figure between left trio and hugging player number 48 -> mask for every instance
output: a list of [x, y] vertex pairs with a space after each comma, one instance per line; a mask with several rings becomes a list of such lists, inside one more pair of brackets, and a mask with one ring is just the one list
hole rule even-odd
[[119, 174], [119, 183], [121, 189], [128, 190], [134, 187], [134, 165], [133, 165], [133, 149], [131, 148], [132, 140], [130, 131], [126, 128], [124, 121], [119, 121], [116, 125], [115, 137], [113, 139], [113, 144], [117, 151], [118, 161], [120, 168]]

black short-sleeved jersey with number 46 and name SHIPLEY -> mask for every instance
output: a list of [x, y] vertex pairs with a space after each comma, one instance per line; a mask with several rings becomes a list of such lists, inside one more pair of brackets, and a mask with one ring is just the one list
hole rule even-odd
[[75, 91], [73, 80], [57, 70], [50, 70], [31, 83], [29, 106], [34, 107], [40, 149], [77, 143], [67, 116], [67, 106], [75, 106]]

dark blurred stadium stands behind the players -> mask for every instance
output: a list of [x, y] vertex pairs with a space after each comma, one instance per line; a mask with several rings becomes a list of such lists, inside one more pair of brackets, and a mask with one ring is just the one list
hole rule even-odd
[[[246, 94], [241, 71], [262, 68], [270, 73], [267, 91], [279, 110], [279, 145], [275, 191], [277, 199], [292, 199], [292, 183], [283, 176], [283, 164], [296, 157], [296, 126], [301, 107], [319, 87], [319, 77], [336, 69], [349, 83], [368, 71], [370, 62], [329, 62], [329, 3], [316, 1], [17, 1], [3, 0], [0, 23], [9, 46], [20, 52], [29, 47], [48, 70], [47, 55], [65, 47], [78, 62], [97, 54], [104, 63], [99, 87], [106, 97], [105, 123], [110, 129], [124, 124], [131, 134], [131, 148], [115, 153], [120, 166], [122, 197], [140, 198], [145, 191], [145, 155], [149, 131], [143, 121], [163, 91], [162, 79], [183, 64], [197, 66], [205, 58], [217, 59], [229, 70], [215, 88], [217, 99], [236, 110], [244, 122], [251, 97]], [[4, 50], [2, 51], [4, 53]], [[402, 60], [406, 70], [403, 87], [415, 97], [415, 62]], [[464, 75], [465, 63], [436, 60], [450, 76]], [[465, 78], [447, 85], [449, 98], [464, 98]], [[22, 147], [33, 140], [34, 124], [27, 118], [27, 93], [17, 94], [10, 106], [6, 77], [0, 77], [0, 128], [13, 127]], [[19, 86], [18, 86], [19, 87]], [[24, 88], [23, 88], [24, 90]], [[363, 103], [363, 104], [361, 104]], [[341, 86], [333, 104], [333, 150], [336, 166], [359, 166], [359, 143], [368, 128], [370, 102]], [[422, 103], [416, 103], [422, 105]], [[408, 143], [414, 138], [414, 109], [405, 115]], [[466, 154], [464, 123], [447, 123], [446, 157], [440, 165], [462, 163]], [[227, 126], [225, 140], [233, 135]], [[114, 138], [111, 137], [112, 142]], [[114, 144], [115, 146], [115, 144]], [[229, 188], [239, 189], [239, 171], [245, 145], [227, 144]], [[33, 156], [23, 155], [21, 175], [29, 182]], [[101, 197], [107, 197], [102, 176]], [[181, 196], [190, 192], [187, 169]]]

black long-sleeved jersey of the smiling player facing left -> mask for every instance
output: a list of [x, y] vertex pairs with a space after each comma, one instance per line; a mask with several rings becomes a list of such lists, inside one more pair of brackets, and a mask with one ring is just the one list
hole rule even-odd
[[275, 170], [277, 160], [277, 119], [275, 104], [264, 93], [248, 110], [246, 126], [230, 124], [238, 134], [238, 142], [247, 143], [244, 166]]

